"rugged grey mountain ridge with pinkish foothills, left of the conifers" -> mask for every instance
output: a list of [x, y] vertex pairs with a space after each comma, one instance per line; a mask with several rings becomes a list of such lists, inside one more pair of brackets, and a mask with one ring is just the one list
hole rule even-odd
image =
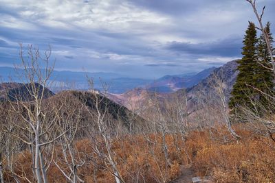
[[133, 90], [129, 90], [126, 93], [120, 95], [109, 94], [111, 100], [115, 102], [119, 102], [126, 108], [133, 108], [134, 110], [140, 111], [144, 109], [144, 106], [148, 103], [148, 101], [153, 97], [156, 97], [160, 101], [169, 100], [175, 97], [181, 97], [181, 95], [186, 95], [188, 98], [188, 108], [189, 112], [194, 110], [193, 106], [197, 103], [197, 93], [203, 93], [203, 95], [208, 95], [209, 93], [214, 93], [213, 85], [215, 84], [216, 77], [219, 80], [223, 81], [225, 84], [225, 97], [228, 101], [230, 98], [230, 92], [236, 80], [236, 75], [238, 71], [236, 70], [238, 64], [236, 60], [232, 60], [230, 62], [225, 63], [223, 66], [219, 68], [211, 68], [208, 71], [211, 73], [202, 78], [201, 81], [192, 86], [190, 88], [181, 88], [174, 93], [156, 93], [154, 91], [146, 90], [146, 88], [134, 88]]

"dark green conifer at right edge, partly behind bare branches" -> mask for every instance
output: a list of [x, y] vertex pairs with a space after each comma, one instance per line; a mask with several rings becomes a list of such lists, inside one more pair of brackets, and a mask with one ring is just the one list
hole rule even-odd
[[[270, 33], [270, 23], [268, 22], [265, 27], [265, 32], [270, 38], [270, 42], [273, 43], [272, 34]], [[273, 48], [272, 48], [273, 49]], [[273, 49], [274, 50], [274, 49]], [[267, 44], [263, 34], [259, 38], [259, 44], [257, 46], [257, 56], [258, 56], [258, 71], [255, 75], [257, 80], [255, 87], [261, 90], [263, 93], [272, 95], [274, 88], [274, 75], [272, 69], [272, 61], [270, 58], [270, 53], [267, 50]], [[270, 68], [270, 69], [268, 69]], [[259, 93], [259, 102], [264, 107], [269, 102], [266, 95]]]

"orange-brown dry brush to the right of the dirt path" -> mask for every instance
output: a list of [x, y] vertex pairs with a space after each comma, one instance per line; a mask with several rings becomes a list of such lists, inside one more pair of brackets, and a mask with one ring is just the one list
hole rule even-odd
[[211, 175], [215, 182], [274, 182], [274, 141], [240, 127], [237, 133], [242, 136], [239, 141], [225, 140], [230, 138], [226, 131], [195, 133], [198, 138], [192, 134], [187, 143], [197, 149], [193, 156], [197, 173]]

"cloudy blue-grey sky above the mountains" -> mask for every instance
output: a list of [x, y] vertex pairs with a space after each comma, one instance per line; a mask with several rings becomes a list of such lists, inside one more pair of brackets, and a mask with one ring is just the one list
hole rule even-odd
[[[275, 33], [275, 0], [256, 2]], [[0, 0], [0, 15], [0, 66], [20, 62], [20, 43], [50, 45], [58, 71], [151, 79], [241, 58], [256, 23], [245, 0]]]

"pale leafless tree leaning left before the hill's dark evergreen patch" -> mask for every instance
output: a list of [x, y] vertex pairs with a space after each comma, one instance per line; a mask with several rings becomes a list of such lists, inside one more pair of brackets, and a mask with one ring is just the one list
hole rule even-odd
[[[122, 175], [118, 169], [117, 162], [115, 162], [115, 153], [113, 152], [113, 136], [115, 130], [112, 128], [115, 127], [113, 125], [114, 121], [110, 120], [109, 117], [109, 101], [104, 97], [104, 94], [100, 94], [95, 92], [94, 90], [94, 81], [88, 78], [90, 92], [87, 93], [88, 96], [91, 96], [92, 108], [94, 111], [89, 108], [89, 106], [85, 105], [87, 112], [91, 119], [96, 123], [96, 131], [89, 130], [89, 135], [91, 136], [91, 141], [93, 144], [93, 149], [100, 157], [104, 163], [106, 164], [106, 168], [110, 173], [113, 174], [116, 183], [124, 182]], [[105, 87], [104, 87], [105, 88]], [[105, 91], [104, 91], [105, 92]], [[89, 102], [89, 101], [84, 101]], [[94, 126], [93, 126], [94, 128]]]

